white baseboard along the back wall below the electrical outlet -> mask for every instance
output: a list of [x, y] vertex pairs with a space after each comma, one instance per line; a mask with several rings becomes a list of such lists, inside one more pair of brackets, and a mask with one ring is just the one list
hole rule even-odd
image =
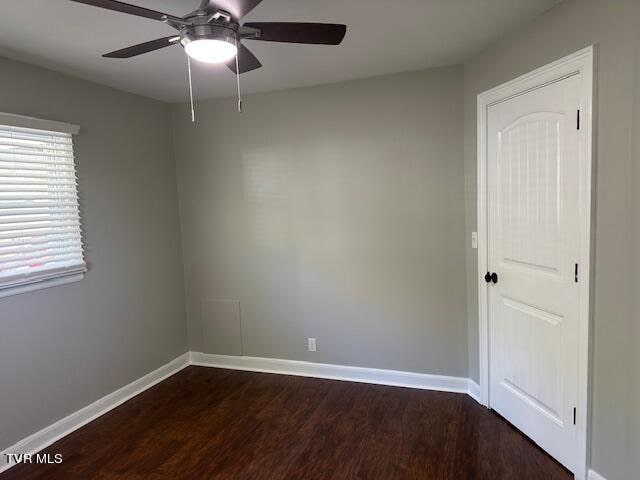
[[299, 360], [234, 357], [191, 352], [190, 363], [191, 365], [203, 367], [326, 378], [349, 382], [390, 385], [394, 387], [437, 390], [441, 392], [466, 393], [471, 395], [473, 398], [477, 398], [475, 393], [476, 387], [477, 391], [480, 391], [480, 387], [478, 387], [475, 382], [463, 377], [429, 375], [426, 373], [402, 372], [397, 370], [381, 370], [377, 368], [349, 367], [344, 365], [330, 365], [326, 363], [302, 362]]

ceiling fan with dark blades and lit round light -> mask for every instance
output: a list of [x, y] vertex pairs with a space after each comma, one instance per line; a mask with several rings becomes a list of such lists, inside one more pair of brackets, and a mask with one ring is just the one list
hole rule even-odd
[[242, 40], [339, 45], [345, 25], [326, 23], [245, 23], [240, 20], [262, 0], [202, 0], [197, 10], [177, 17], [116, 0], [71, 0], [117, 12], [164, 22], [177, 34], [107, 53], [103, 57], [131, 58], [172, 45], [182, 45], [190, 58], [206, 63], [226, 63], [236, 74], [262, 64]]

